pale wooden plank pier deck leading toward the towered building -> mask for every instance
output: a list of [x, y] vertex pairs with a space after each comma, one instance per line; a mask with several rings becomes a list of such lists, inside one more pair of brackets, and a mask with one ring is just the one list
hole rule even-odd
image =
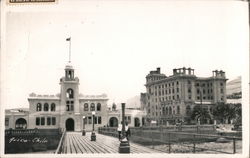
[[[63, 154], [119, 153], [120, 141], [117, 138], [96, 133], [96, 141], [90, 140], [90, 132], [82, 136], [81, 132], [67, 132], [64, 139]], [[162, 153], [139, 144], [130, 142], [130, 153]]]

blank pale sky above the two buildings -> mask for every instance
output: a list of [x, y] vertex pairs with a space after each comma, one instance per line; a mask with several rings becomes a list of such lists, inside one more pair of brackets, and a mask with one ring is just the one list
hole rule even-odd
[[30, 93], [60, 93], [71, 62], [82, 94], [109, 104], [145, 92], [146, 75], [191, 67], [198, 77], [246, 72], [248, 10], [238, 1], [79, 1], [6, 6], [2, 30], [1, 105], [28, 107]]

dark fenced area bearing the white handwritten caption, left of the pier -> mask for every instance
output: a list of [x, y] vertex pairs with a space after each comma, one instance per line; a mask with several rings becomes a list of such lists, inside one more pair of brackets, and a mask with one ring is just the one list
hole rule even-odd
[[61, 129], [8, 129], [5, 130], [5, 153], [53, 150], [61, 136]]

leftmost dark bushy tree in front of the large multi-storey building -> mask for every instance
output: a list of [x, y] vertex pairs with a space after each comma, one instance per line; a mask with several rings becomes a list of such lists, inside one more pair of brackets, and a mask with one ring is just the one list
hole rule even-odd
[[207, 123], [208, 119], [211, 119], [211, 115], [208, 109], [203, 108], [201, 105], [196, 105], [191, 114], [192, 120], [200, 120], [201, 123]]

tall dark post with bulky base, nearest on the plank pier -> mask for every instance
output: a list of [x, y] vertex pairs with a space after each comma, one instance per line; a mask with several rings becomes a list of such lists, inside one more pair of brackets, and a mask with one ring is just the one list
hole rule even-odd
[[129, 142], [125, 136], [125, 103], [122, 103], [122, 139], [119, 146], [119, 153], [130, 153]]

